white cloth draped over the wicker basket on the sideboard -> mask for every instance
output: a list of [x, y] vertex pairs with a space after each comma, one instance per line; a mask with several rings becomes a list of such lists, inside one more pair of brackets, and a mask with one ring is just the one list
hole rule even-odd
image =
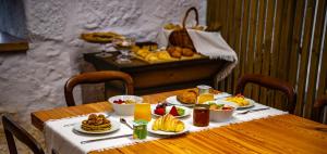
[[[158, 43], [160, 47], [168, 46], [168, 38], [172, 30], [161, 30], [158, 35]], [[223, 40], [220, 33], [202, 31], [195, 29], [187, 29], [187, 33], [193, 41], [196, 51], [210, 59], [219, 59], [227, 61], [227, 64], [220, 69], [215, 78], [215, 87], [218, 81], [227, 77], [238, 64], [238, 55]]]

